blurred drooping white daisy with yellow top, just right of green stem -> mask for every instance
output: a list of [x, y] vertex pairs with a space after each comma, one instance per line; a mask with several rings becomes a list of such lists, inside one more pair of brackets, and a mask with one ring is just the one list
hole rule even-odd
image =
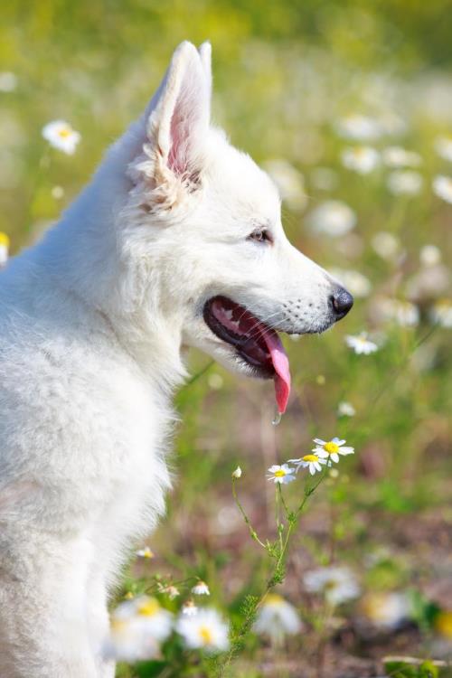
[[295, 636], [301, 628], [297, 609], [276, 593], [270, 593], [265, 598], [253, 625], [253, 631], [270, 636], [273, 645], [282, 645], [284, 636]]

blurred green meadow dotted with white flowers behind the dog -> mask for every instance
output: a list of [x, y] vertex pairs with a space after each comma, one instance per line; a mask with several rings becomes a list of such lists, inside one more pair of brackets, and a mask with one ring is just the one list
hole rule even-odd
[[[201, 354], [177, 396], [167, 516], [148, 541], [154, 557], [133, 560], [119, 597], [155, 575], [193, 575], [240, 617], [268, 564], [233, 504], [233, 469], [271, 538], [268, 466], [307, 454], [312, 438], [355, 447], [313, 497], [278, 587], [302, 630], [251, 636], [236, 676], [363, 678], [382, 675], [388, 654], [452, 652], [451, 10], [448, 0], [0, 9], [0, 231], [12, 254], [79, 193], [178, 42], [209, 39], [215, 123], [277, 182], [293, 243], [355, 296], [330, 332], [287, 340], [294, 390], [277, 427], [271, 383], [231, 377]], [[72, 155], [42, 138], [55, 119], [80, 133]], [[355, 353], [360, 341], [373, 352]], [[354, 582], [333, 607], [333, 575], [326, 588], [306, 579], [331, 566]], [[118, 675], [173, 675], [162, 670]]]

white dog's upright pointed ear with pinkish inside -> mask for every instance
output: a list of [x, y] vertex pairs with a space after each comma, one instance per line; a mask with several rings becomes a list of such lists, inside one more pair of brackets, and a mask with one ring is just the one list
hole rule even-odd
[[211, 111], [210, 54], [207, 42], [200, 52], [182, 42], [146, 111], [147, 162], [134, 169], [151, 172], [157, 183], [167, 180], [168, 173], [193, 183], [201, 172]]

